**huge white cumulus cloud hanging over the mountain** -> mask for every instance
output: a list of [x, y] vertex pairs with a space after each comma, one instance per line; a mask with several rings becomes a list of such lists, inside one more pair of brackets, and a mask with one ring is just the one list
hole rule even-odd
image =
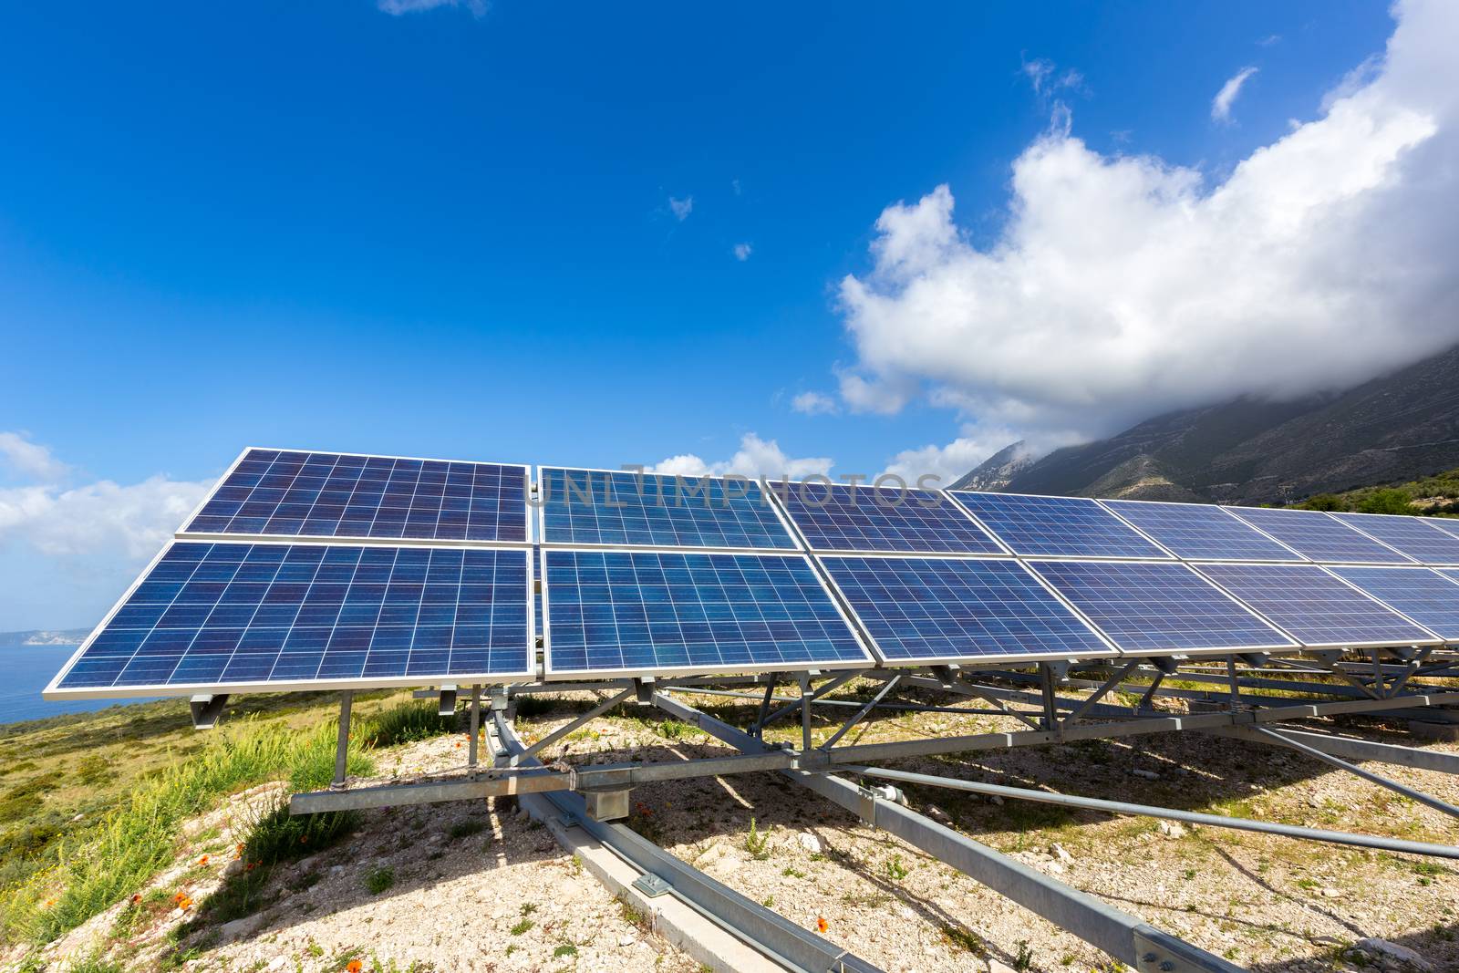
[[1459, 6], [1395, 13], [1376, 67], [1220, 181], [1055, 125], [1015, 159], [986, 247], [945, 185], [887, 207], [872, 268], [839, 286], [846, 406], [926, 394], [957, 410], [959, 441], [1087, 439], [1351, 387], [1459, 341]]

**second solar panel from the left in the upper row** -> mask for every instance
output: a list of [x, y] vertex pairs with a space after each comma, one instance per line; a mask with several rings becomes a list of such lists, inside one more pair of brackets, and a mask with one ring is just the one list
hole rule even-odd
[[795, 550], [748, 480], [544, 467], [541, 502], [543, 540], [553, 544]]

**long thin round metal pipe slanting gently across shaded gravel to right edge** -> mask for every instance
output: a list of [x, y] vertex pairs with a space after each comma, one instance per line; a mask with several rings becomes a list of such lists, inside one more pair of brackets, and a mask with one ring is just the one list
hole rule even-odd
[[1253, 821], [1250, 818], [1226, 817], [1223, 814], [1201, 814], [1199, 811], [1179, 811], [1174, 808], [1153, 807], [1148, 804], [1129, 804], [1126, 801], [1104, 801], [1102, 798], [1084, 798], [1072, 794], [1053, 794], [1049, 791], [1034, 791], [1032, 788], [1008, 788], [998, 783], [982, 783], [979, 780], [961, 780], [959, 778], [941, 778], [928, 773], [912, 773], [909, 770], [890, 770], [886, 767], [843, 767], [848, 773], [859, 773], [867, 778], [897, 780], [902, 783], [919, 783], [931, 788], [948, 788], [951, 791], [967, 791], [970, 794], [989, 794], [1015, 801], [1037, 801], [1040, 804], [1056, 804], [1085, 811], [1104, 811], [1107, 814], [1132, 814], [1139, 817], [1160, 817], [1186, 824], [1205, 824], [1210, 827], [1230, 827], [1242, 831], [1262, 831], [1266, 834], [1281, 834], [1282, 837], [1299, 837], [1315, 842], [1331, 842], [1334, 845], [1354, 845], [1357, 848], [1377, 848], [1386, 852], [1405, 852], [1408, 855], [1431, 855], [1434, 858], [1459, 859], [1459, 848], [1453, 845], [1434, 845], [1431, 842], [1408, 842], [1399, 837], [1379, 837], [1373, 834], [1352, 834], [1350, 831], [1328, 831], [1323, 829], [1299, 827], [1296, 824], [1277, 824], [1274, 821]]

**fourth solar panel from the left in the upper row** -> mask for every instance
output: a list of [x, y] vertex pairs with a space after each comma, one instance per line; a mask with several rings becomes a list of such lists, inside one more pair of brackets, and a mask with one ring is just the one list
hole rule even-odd
[[964, 490], [953, 496], [1015, 554], [1170, 557], [1085, 497]]

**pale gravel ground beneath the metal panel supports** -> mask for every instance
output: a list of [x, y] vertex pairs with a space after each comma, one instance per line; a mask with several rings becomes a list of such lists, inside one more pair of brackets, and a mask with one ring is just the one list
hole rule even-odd
[[[587, 696], [518, 721], [535, 740], [585, 709]], [[713, 706], [722, 700], [699, 699]], [[721, 708], [744, 719], [753, 706]], [[635, 715], [641, 713], [645, 718]], [[843, 743], [1013, 729], [985, 716], [916, 715], [858, 726]], [[1334, 726], [1328, 726], [1329, 729]], [[830, 724], [818, 725], [824, 737]], [[1371, 721], [1339, 729], [1390, 743]], [[798, 731], [798, 728], [797, 728]], [[773, 735], [772, 735], [773, 738]], [[1459, 753], [1455, 744], [1427, 744]], [[680, 760], [727, 750], [697, 729], [620, 710], [592, 721], [549, 759], [578, 763]], [[379, 778], [411, 780], [460, 769], [461, 735], [376, 756]], [[1334, 830], [1456, 843], [1450, 818], [1300, 754], [1198, 734], [918, 759], [906, 770], [1087, 796], [1261, 817]], [[1452, 802], [1459, 780], [1377, 767]], [[155, 888], [201, 903], [241, 862], [226, 849], [274, 788], [239, 795], [188, 829], [179, 865]], [[1245, 831], [1116, 818], [947, 789], [907, 789], [937, 820], [1234, 963], [1306, 973], [1361, 967], [1344, 953], [1364, 937], [1409, 947], [1433, 970], [1459, 970], [1459, 867], [1406, 855]], [[657, 783], [633, 792], [626, 821], [727, 885], [846, 950], [896, 972], [1113, 970], [1109, 957], [781, 775]], [[236, 829], [236, 830], [235, 830]], [[225, 853], [219, 853], [223, 849]], [[198, 856], [210, 853], [210, 862]], [[387, 880], [381, 878], [388, 874]], [[371, 877], [376, 890], [371, 890]], [[379, 888], [381, 884], [388, 884]], [[338, 846], [270, 877], [254, 916], [182, 941], [182, 969], [341, 970], [694, 970], [645, 929], [509, 799], [363, 814]], [[169, 906], [168, 906], [169, 907]], [[120, 906], [47, 951], [82, 957]], [[121, 947], [124, 969], [174, 951], [187, 916], [159, 912]]]

